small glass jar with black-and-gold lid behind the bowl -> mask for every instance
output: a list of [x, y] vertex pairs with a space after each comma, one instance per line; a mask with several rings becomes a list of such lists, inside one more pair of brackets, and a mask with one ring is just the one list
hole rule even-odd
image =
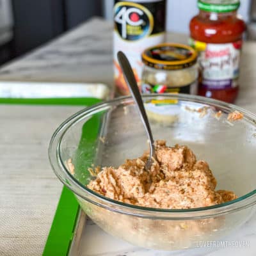
[[192, 47], [159, 44], [146, 49], [141, 58], [141, 93], [197, 93], [197, 54]]

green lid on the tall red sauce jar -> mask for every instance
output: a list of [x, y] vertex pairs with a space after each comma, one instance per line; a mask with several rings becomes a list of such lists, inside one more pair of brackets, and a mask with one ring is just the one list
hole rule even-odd
[[198, 0], [197, 6], [206, 12], [233, 12], [240, 6], [239, 0]]

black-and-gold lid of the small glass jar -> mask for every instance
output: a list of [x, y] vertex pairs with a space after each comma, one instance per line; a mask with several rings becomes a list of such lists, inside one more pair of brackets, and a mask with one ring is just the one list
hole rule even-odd
[[141, 59], [148, 67], [164, 70], [188, 68], [196, 63], [196, 51], [183, 44], [158, 44], [146, 49]]

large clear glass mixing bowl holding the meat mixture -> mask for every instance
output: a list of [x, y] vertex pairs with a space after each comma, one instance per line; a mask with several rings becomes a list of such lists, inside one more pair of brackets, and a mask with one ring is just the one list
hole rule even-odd
[[[131, 97], [86, 108], [60, 125], [49, 148], [56, 175], [99, 227], [138, 246], [180, 250], [234, 231], [255, 212], [256, 116], [192, 95], [144, 95], [143, 100], [154, 139], [188, 145], [197, 159], [209, 163], [216, 189], [234, 191], [236, 200], [196, 209], [152, 209], [116, 202], [86, 188], [93, 179], [88, 168], [118, 166], [148, 148]], [[229, 122], [228, 113], [236, 110], [243, 119]]]

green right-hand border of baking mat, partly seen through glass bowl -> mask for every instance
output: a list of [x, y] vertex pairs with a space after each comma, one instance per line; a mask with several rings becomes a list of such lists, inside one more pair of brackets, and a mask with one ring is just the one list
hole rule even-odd
[[[96, 101], [94, 102], [96, 103]], [[90, 99], [90, 103], [92, 103], [92, 99]], [[103, 118], [104, 113], [99, 113], [99, 115], [93, 116], [83, 125], [80, 143], [73, 158], [73, 163], [77, 170], [76, 179], [82, 184], [86, 183], [88, 167], [91, 167], [91, 164], [95, 161], [97, 138], [99, 137]], [[66, 187], [63, 187], [43, 256], [68, 255], [75, 234], [74, 229], [78, 214], [79, 205], [74, 194]]]

